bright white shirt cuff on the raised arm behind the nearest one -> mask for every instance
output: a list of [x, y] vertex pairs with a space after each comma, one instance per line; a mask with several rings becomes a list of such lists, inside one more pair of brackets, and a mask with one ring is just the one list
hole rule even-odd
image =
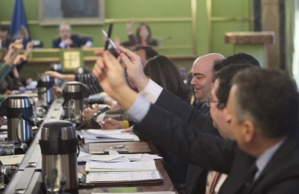
[[141, 96], [147, 99], [150, 103], [154, 104], [160, 96], [163, 88], [155, 83], [153, 80], [149, 80], [147, 86], [140, 92]]

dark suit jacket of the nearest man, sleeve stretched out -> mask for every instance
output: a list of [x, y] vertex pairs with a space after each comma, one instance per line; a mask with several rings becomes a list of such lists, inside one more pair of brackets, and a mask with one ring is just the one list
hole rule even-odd
[[[187, 110], [186, 107], [181, 109]], [[151, 105], [141, 123], [135, 125], [134, 132], [152, 139], [184, 161], [228, 174], [219, 193], [239, 194], [246, 172], [256, 159], [240, 150], [235, 141], [202, 132], [176, 114]], [[273, 155], [249, 193], [298, 194], [299, 135], [298, 129], [294, 131]]]

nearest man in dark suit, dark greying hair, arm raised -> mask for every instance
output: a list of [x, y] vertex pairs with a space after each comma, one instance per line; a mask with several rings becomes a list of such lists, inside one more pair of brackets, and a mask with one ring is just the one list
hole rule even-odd
[[[135, 63], [126, 63], [129, 59], [124, 55], [122, 60], [127, 68]], [[298, 192], [299, 98], [286, 74], [258, 68], [234, 78], [226, 108], [226, 119], [236, 139], [232, 141], [202, 133], [178, 117], [181, 109], [171, 113], [151, 105], [126, 86], [117, 64], [105, 53], [97, 61], [94, 74], [104, 91], [135, 117], [135, 131], [192, 164], [228, 174], [219, 193]], [[218, 103], [213, 98], [210, 102]], [[201, 122], [200, 117], [197, 122]]]

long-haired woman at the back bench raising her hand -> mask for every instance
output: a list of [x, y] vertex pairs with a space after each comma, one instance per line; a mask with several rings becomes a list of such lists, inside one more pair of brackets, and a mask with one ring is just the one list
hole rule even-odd
[[133, 34], [134, 19], [131, 23], [126, 24], [126, 30], [129, 36], [129, 41], [131, 46], [135, 45], [150, 45], [158, 46], [158, 42], [155, 39], [152, 39], [152, 32], [149, 28], [149, 25], [141, 23], [136, 30], [136, 37]]

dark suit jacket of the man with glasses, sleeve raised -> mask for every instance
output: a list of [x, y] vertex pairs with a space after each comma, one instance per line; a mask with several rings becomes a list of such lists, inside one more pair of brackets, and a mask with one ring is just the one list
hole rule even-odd
[[[210, 108], [205, 105], [202, 106], [202, 103], [197, 107], [186, 106], [185, 103], [179, 101], [179, 99], [174, 97], [170, 92], [163, 90], [155, 104], [165, 110], [177, 113], [177, 115], [186, 122], [193, 124], [204, 132], [220, 136], [218, 130], [213, 127], [213, 120], [210, 117]], [[206, 191], [207, 173], [207, 169], [190, 164], [188, 167], [185, 193], [204, 194]]]

